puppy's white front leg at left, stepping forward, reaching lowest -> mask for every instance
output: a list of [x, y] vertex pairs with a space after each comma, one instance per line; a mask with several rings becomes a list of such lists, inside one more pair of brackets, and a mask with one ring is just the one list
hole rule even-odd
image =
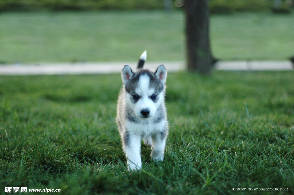
[[128, 159], [128, 169], [141, 169], [141, 137], [132, 133], [126, 132], [123, 136], [124, 151]]

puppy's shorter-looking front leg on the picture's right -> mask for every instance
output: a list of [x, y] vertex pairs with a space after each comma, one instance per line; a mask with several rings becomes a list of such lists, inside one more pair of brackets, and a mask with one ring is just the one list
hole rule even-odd
[[152, 135], [151, 158], [153, 160], [163, 160], [163, 153], [166, 141], [166, 133], [160, 132]]

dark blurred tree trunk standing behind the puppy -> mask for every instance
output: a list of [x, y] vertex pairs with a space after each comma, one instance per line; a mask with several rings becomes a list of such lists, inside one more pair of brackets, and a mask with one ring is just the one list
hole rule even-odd
[[211, 53], [208, 0], [184, 0], [189, 71], [210, 74], [217, 61]]

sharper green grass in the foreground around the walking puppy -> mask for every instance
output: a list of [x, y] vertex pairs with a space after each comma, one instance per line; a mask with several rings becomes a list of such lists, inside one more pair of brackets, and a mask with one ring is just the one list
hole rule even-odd
[[59, 194], [293, 186], [293, 74], [168, 74], [164, 161], [152, 161], [142, 142], [143, 169], [132, 174], [115, 124], [120, 75], [1, 76], [0, 194], [9, 186]]

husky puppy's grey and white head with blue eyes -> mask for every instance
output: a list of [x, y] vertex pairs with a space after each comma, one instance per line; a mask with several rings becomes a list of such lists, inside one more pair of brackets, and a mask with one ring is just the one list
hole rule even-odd
[[166, 76], [163, 65], [158, 66], [155, 72], [138, 69], [138, 72], [134, 73], [128, 65], [123, 67], [126, 101], [137, 117], [149, 119], [155, 115], [164, 99]]

